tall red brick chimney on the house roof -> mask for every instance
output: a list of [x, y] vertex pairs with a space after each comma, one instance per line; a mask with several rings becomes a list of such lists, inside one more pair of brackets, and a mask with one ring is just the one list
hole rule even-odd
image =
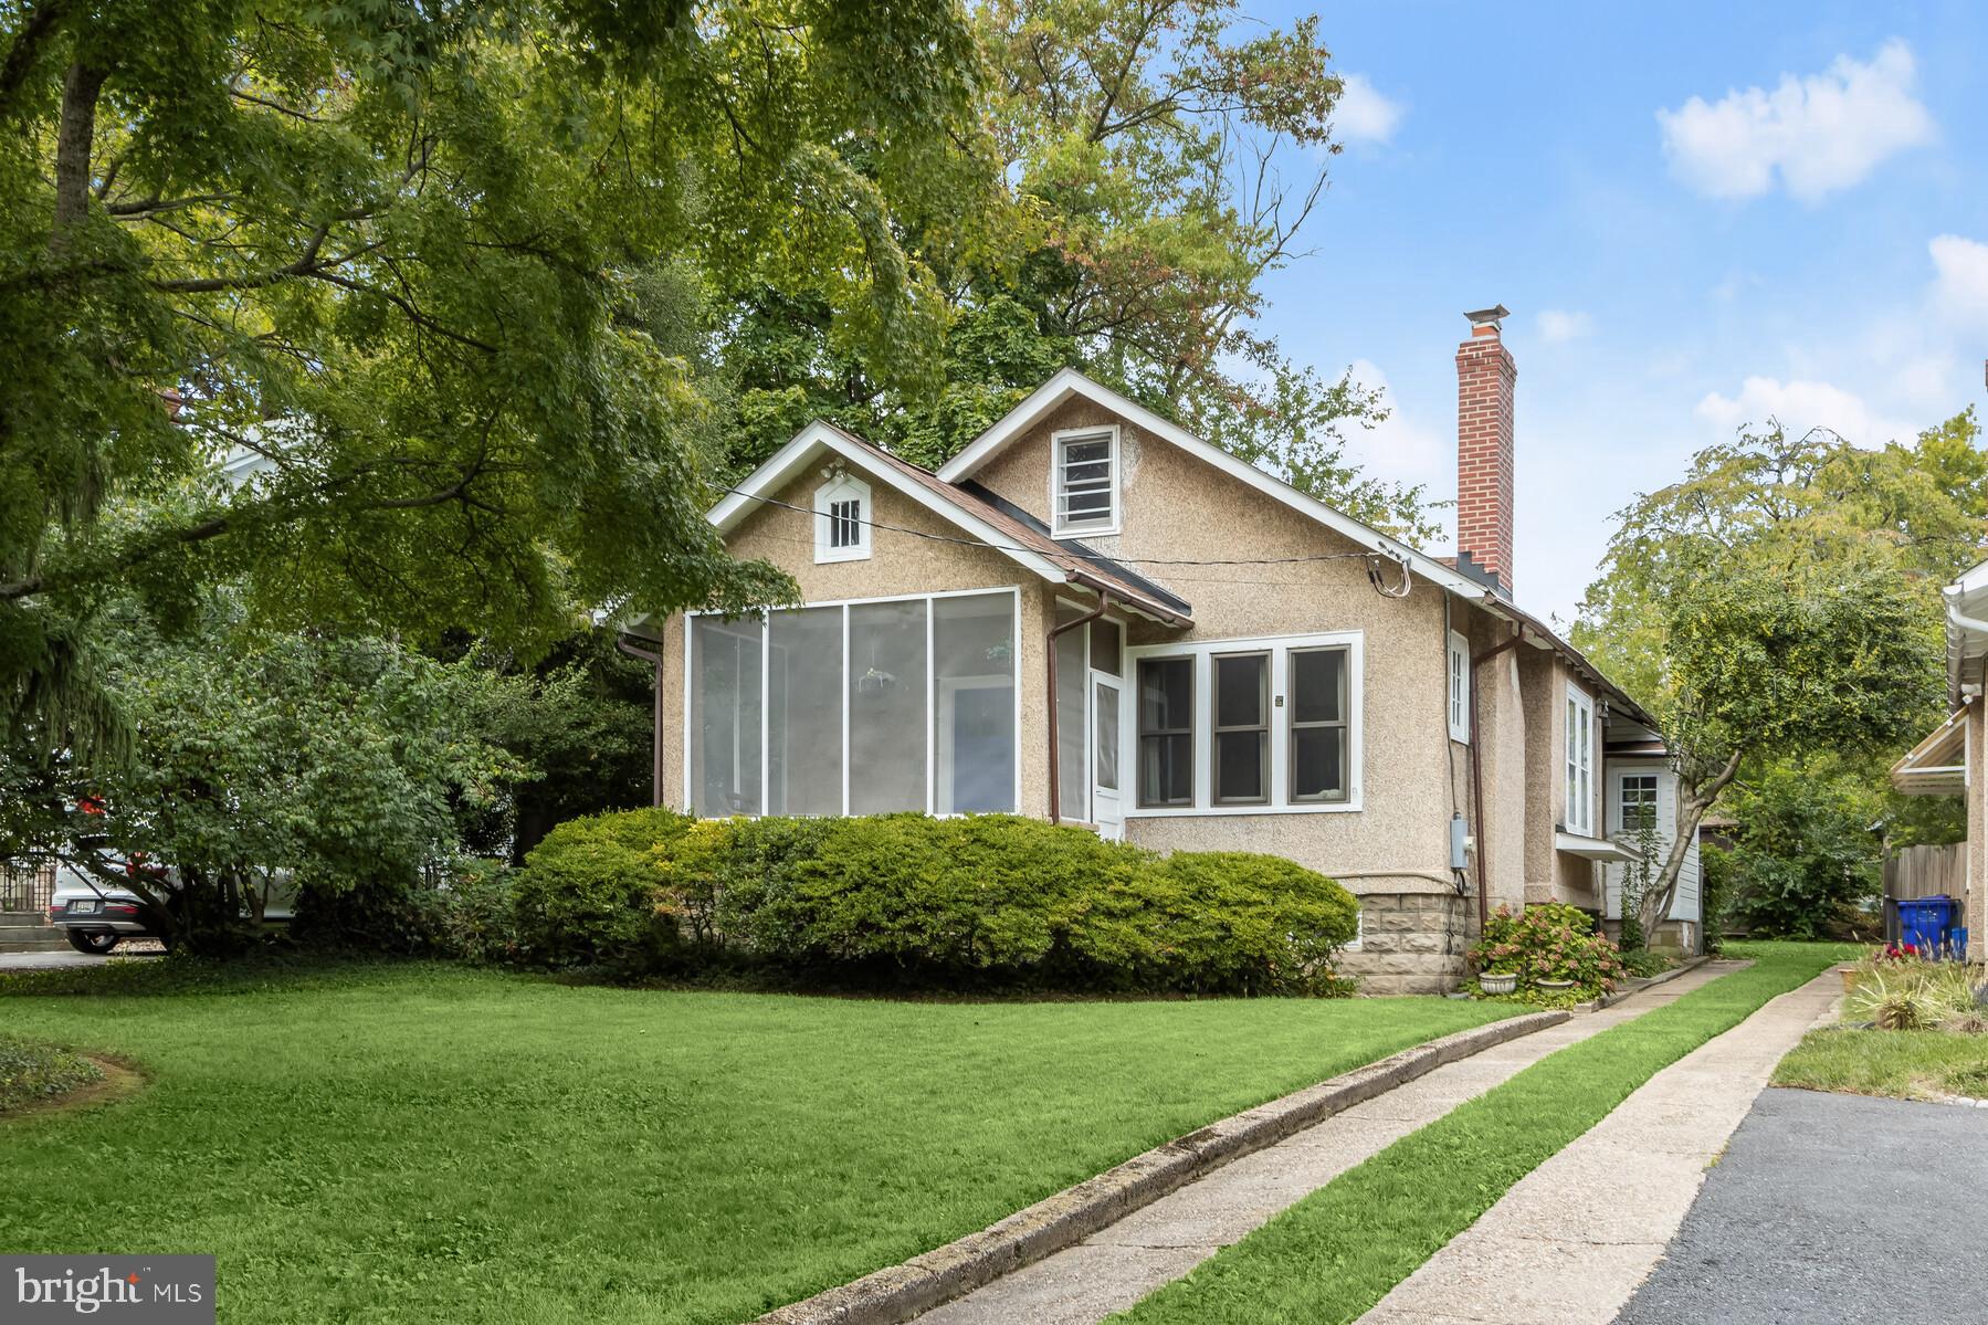
[[1465, 312], [1457, 346], [1457, 569], [1511, 597], [1513, 430], [1519, 368], [1499, 338], [1499, 304]]

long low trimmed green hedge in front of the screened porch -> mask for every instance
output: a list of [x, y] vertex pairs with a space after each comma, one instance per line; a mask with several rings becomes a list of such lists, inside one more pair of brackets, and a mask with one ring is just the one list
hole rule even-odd
[[1010, 814], [561, 824], [519, 941], [616, 975], [753, 965], [912, 987], [1340, 993], [1352, 893], [1276, 855], [1157, 855]]

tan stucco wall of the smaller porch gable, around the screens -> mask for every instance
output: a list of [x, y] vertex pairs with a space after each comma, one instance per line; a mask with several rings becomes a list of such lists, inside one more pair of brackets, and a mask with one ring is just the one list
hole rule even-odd
[[[821, 485], [819, 466], [795, 479], [779, 501], [811, 507]], [[899, 495], [881, 481], [871, 481], [871, 519], [920, 533], [958, 537], [958, 529], [926, 511], [916, 501]], [[843, 599], [875, 599], [948, 589], [1008, 589], [1022, 587], [1022, 639], [1018, 702], [1022, 706], [1022, 812], [1048, 814], [1048, 714], [1042, 686], [1044, 631], [1048, 589], [1036, 573], [1010, 557], [960, 543], [938, 543], [899, 529], [871, 529], [871, 555], [863, 561], [815, 563], [813, 517], [777, 505], [759, 507], [747, 515], [730, 539], [730, 549], [742, 559], [765, 559], [793, 575], [805, 603], [835, 603]], [[684, 617], [664, 625], [664, 694], [662, 694], [662, 784], [664, 804], [684, 804]]]

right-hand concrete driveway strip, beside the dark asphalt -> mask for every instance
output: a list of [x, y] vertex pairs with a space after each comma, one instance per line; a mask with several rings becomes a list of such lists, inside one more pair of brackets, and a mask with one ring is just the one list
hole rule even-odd
[[1513, 1184], [1360, 1325], [1608, 1325], [1678, 1235], [1706, 1168], [1781, 1054], [1841, 991], [1825, 971], [1672, 1062]]

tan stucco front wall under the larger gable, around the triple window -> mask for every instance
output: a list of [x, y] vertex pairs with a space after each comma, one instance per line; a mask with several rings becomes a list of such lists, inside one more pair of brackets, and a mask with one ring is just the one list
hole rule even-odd
[[1141, 561], [1364, 549], [1087, 400], [1062, 406], [974, 477], [1048, 519], [1050, 436], [1099, 424], [1119, 424], [1121, 533], [1085, 541], [1187, 599], [1195, 615], [1185, 633], [1135, 623], [1129, 645], [1312, 631], [1364, 635], [1362, 810], [1133, 816], [1127, 838], [1159, 850], [1276, 852], [1340, 877], [1354, 891], [1451, 891], [1441, 591], [1417, 581], [1406, 599], [1386, 599], [1374, 591], [1360, 557], [1242, 567]]

